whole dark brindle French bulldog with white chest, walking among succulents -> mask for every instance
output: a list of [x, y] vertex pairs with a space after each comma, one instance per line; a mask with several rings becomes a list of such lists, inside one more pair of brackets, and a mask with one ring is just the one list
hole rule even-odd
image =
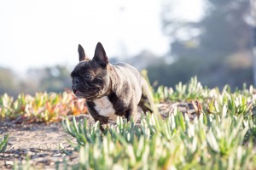
[[125, 63], [110, 64], [101, 42], [90, 59], [79, 44], [79, 64], [71, 72], [73, 94], [86, 99], [90, 115], [101, 129], [108, 120], [125, 116], [137, 120], [138, 106], [143, 112], [153, 111], [153, 98], [148, 82], [136, 68]]

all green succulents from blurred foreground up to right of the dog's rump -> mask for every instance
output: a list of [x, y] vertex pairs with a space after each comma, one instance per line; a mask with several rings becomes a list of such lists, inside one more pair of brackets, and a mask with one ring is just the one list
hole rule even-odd
[[[202, 88], [196, 77], [175, 90], [160, 87], [156, 101], [198, 100], [201, 112], [189, 116], [174, 109], [162, 120], [143, 116], [141, 123], [121, 117], [101, 133], [99, 122], [62, 122], [77, 143], [74, 169], [254, 169], [256, 116], [253, 87], [230, 92], [226, 86]], [[196, 107], [196, 105], [195, 105]], [[199, 108], [195, 108], [198, 110]]]

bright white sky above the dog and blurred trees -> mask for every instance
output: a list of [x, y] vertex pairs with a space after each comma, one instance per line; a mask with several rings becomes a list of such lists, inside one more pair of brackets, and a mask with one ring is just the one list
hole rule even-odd
[[[178, 2], [176, 14], [201, 17], [201, 0]], [[29, 67], [78, 63], [80, 43], [93, 56], [102, 42], [109, 57], [129, 57], [148, 49], [163, 55], [159, 0], [0, 0], [0, 66]], [[122, 56], [121, 56], [122, 55]], [[124, 56], [125, 55], [125, 56]]]

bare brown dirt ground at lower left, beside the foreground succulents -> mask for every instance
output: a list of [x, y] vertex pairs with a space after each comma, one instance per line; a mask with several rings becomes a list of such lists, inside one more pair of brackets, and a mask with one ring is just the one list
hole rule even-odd
[[[55, 169], [58, 162], [66, 160], [68, 164], [73, 164], [79, 156], [67, 142], [67, 139], [73, 142], [75, 139], [64, 132], [61, 122], [26, 125], [0, 122], [0, 134], [9, 134], [9, 146], [4, 153], [0, 153], [1, 169], [11, 169], [15, 163], [26, 163], [26, 158], [37, 169]], [[60, 150], [60, 145], [69, 155]]]

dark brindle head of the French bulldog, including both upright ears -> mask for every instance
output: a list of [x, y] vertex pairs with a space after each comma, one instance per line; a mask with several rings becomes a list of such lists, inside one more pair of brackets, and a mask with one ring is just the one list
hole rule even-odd
[[108, 57], [101, 42], [96, 45], [93, 59], [84, 53], [79, 45], [79, 64], [71, 72], [73, 93], [87, 100], [101, 98], [108, 92]]

